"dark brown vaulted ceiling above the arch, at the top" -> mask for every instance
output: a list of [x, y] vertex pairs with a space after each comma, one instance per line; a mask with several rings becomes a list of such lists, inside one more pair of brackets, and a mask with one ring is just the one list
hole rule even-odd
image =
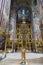
[[37, 0], [11, 0], [11, 6], [28, 5], [31, 6], [33, 3], [36, 5]]

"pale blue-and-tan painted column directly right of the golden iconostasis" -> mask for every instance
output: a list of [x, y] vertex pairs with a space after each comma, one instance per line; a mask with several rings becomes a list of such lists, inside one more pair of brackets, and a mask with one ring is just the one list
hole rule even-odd
[[[37, 46], [36, 41], [39, 40], [41, 41], [41, 30], [40, 30], [40, 15], [39, 15], [39, 10], [38, 10], [38, 5], [34, 5], [32, 3], [32, 14], [33, 14], [33, 39], [35, 43], [35, 47]], [[37, 49], [36, 49], [37, 51]]]

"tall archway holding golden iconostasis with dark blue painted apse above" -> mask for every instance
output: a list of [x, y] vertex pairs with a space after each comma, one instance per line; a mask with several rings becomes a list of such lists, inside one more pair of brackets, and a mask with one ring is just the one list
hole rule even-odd
[[27, 5], [20, 5], [17, 9], [17, 45], [18, 50], [24, 47], [28, 51], [33, 51], [32, 45], [32, 10]]

